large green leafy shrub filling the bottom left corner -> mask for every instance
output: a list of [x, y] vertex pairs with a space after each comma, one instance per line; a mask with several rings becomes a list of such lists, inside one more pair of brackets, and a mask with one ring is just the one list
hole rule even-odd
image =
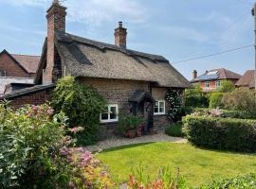
[[38, 185], [43, 178], [50, 186], [64, 179], [62, 172], [58, 178], [47, 177], [53, 172], [48, 155], [61, 146], [66, 121], [63, 114], [52, 119], [52, 113], [47, 105], [14, 112], [0, 104], [0, 188]]

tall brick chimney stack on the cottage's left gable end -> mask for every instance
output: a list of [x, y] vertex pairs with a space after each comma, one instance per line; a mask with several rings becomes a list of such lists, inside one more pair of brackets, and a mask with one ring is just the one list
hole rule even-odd
[[44, 83], [55, 82], [62, 75], [60, 58], [54, 45], [54, 34], [56, 30], [65, 31], [65, 10], [66, 8], [60, 5], [59, 0], [54, 0], [47, 10], [47, 59], [46, 70], [43, 74]]

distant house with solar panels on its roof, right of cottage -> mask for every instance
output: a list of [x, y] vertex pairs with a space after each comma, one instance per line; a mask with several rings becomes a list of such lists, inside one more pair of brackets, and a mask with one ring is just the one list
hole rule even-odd
[[192, 85], [197, 85], [203, 89], [204, 92], [216, 90], [221, 86], [223, 80], [229, 80], [234, 84], [241, 76], [225, 68], [213, 69], [206, 71], [203, 75], [197, 77], [197, 71], [192, 73]]

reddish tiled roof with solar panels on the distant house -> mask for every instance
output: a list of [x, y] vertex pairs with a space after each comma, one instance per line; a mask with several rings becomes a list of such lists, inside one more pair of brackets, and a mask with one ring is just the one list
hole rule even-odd
[[236, 74], [225, 68], [213, 69], [207, 71], [205, 74], [192, 79], [193, 82], [207, 81], [207, 80], [221, 80], [221, 79], [239, 79], [241, 75]]

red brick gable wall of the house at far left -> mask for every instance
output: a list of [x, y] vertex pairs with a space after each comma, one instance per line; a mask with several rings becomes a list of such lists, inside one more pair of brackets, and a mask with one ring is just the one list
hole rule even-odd
[[0, 70], [6, 71], [7, 77], [29, 77], [29, 74], [7, 54], [0, 56]]

